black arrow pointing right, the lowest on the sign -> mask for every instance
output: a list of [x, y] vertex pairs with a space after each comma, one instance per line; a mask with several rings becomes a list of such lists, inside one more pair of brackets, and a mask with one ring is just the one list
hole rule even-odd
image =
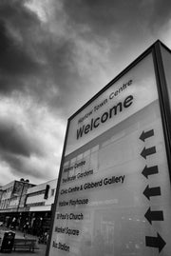
[[166, 243], [158, 233], [157, 237], [145, 236], [145, 245], [149, 247], [159, 248], [159, 252], [161, 252], [161, 249], [166, 245]]

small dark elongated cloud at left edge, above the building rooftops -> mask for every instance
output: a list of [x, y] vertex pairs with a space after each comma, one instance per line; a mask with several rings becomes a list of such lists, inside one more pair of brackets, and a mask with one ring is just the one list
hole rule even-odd
[[43, 155], [33, 136], [28, 135], [22, 126], [5, 119], [0, 119], [0, 149], [1, 152], [25, 157], [31, 154]]

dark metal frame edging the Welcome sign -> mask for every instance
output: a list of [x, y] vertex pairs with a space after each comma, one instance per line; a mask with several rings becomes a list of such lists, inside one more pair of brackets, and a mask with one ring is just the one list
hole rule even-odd
[[54, 201], [54, 205], [52, 207], [50, 234], [49, 234], [48, 243], [47, 243], [46, 256], [49, 255], [50, 241], [51, 241], [51, 237], [52, 237], [55, 212], [56, 212], [56, 207], [57, 207], [57, 203], [58, 203], [58, 196], [59, 196], [59, 189], [60, 189], [61, 178], [62, 178], [63, 164], [64, 164], [64, 160], [65, 160], [66, 142], [67, 142], [68, 130], [69, 130], [69, 125], [70, 125], [71, 120], [78, 113], [80, 113], [84, 108], [86, 108], [90, 103], [92, 103], [95, 99], [97, 99], [101, 94], [103, 94], [106, 89], [109, 89], [114, 83], [116, 83], [121, 77], [123, 77], [123, 75], [125, 73], [127, 73], [130, 69], [132, 69], [139, 62], [141, 62], [142, 59], [145, 58], [149, 53], [152, 53], [152, 56], [153, 56], [156, 83], [157, 83], [159, 102], [160, 102], [160, 108], [161, 108], [161, 123], [162, 123], [162, 128], [163, 128], [164, 143], [165, 143], [165, 148], [166, 148], [168, 169], [169, 169], [170, 182], [171, 182], [171, 111], [169, 108], [169, 98], [168, 98], [168, 92], [167, 92], [168, 85], [166, 84], [166, 79], [165, 79], [165, 74], [164, 74], [164, 69], [163, 69], [161, 47], [163, 47], [164, 49], [167, 49], [169, 51], [169, 53], [171, 53], [171, 50], [168, 49], [166, 46], [164, 46], [160, 40], [156, 41], [151, 47], [146, 49], [135, 61], [133, 61], [127, 68], [123, 69], [123, 71], [119, 75], [117, 75], [113, 80], [111, 80], [104, 87], [104, 89], [101, 89], [95, 96], [93, 96], [87, 103], [85, 103], [85, 105], [82, 108], [78, 109], [72, 116], [70, 116], [68, 118], [67, 126], [66, 126], [65, 143], [64, 143], [63, 153], [62, 153], [62, 160], [61, 160], [57, 189], [56, 189], [56, 194], [55, 194], [55, 201]]

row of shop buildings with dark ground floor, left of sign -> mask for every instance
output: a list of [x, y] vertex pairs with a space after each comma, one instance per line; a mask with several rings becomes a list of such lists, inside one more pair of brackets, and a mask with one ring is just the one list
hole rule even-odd
[[57, 179], [33, 185], [28, 181], [12, 181], [0, 189], [0, 221], [10, 228], [41, 235], [50, 226]]

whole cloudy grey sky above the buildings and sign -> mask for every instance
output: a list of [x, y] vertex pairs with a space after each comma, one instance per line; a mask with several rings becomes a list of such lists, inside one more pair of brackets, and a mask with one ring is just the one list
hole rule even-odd
[[169, 0], [1, 0], [0, 185], [57, 178], [67, 118], [157, 39]]

